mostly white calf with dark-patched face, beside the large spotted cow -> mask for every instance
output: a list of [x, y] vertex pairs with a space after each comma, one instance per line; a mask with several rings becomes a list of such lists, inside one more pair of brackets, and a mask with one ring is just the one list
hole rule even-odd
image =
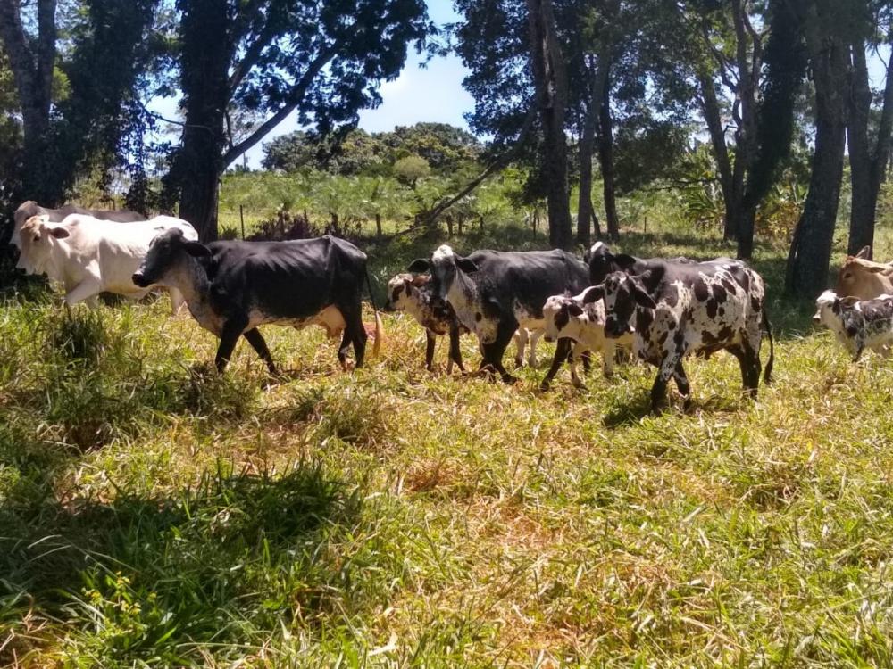
[[[605, 376], [613, 374], [613, 363], [616, 354], [616, 346], [619, 344], [627, 349], [632, 348], [632, 335], [624, 335], [620, 339], [605, 337], [605, 304], [601, 300], [584, 302], [586, 293], [592, 290], [587, 288], [579, 295], [553, 295], [543, 307], [543, 317], [546, 319], [546, 341], [566, 338], [574, 342], [571, 357], [571, 382], [577, 388], [582, 388], [583, 383], [577, 376], [577, 361], [583, 351], [601, 353], [602, 370]], [[541, 388], [544, 390], [552, 382], [559, 365], [553, 365], [546, 378], [543, 379]]]

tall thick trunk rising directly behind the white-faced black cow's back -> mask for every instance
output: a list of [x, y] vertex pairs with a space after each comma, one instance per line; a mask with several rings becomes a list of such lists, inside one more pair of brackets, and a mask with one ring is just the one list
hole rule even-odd
[[570, 249], [573, 231], [564, 137], [567, 72], [555, 34], [552, 0], [527, 0], [527, 7], [530, 62], [544, 136], [541, 170], [547, 182], [549, 243]]

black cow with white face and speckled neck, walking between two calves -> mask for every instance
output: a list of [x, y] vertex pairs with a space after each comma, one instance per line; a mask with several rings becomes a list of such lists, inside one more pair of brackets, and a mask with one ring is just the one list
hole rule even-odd
[[557, 250], [476, 251], [463, 257], [444, 244], [430, 259], [414, 260], [409, 271], [430, 272], [434, 293], [477, 335], [481, 370], [497, 372], [505, 383], [516, 380], [502, 363], [515, 331], [541, 330], [543, 305], [550, 295], [579, 293], [588, 285], [586, 265]]

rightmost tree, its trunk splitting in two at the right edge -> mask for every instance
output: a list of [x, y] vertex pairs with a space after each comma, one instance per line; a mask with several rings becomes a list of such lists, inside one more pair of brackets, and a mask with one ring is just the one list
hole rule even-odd
[[[873, 247], [874, 221], [884, 170], [890, 158], [890, 131], [893, 129], [893, 59], [887, 62], [887, 80], [880, 96], [880, 120], [872, 124], [874, 93], [869, 84], [865, 52], [880, 43], [893, 44], [893, 21], [889, 4], [875, 12], [864, 6], [856, 14], [849, 50], [853, 72], [853, 93], [849, 96], [847, 146], [853, 197], [849, 219], [848, 252], [855, 255], [864, 246]], [[874, 126], [872, 128], [872, 125]]]

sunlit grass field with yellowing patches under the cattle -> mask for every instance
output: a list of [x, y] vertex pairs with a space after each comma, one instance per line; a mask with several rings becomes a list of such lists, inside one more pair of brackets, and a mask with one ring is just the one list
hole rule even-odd
[[[378, 284], [438, 241], [371, 244]], [[755, 262], [776, 383], [754, 403], [735, 359], [691, 359], [693, 409], [656, 417], [651, 368], [584, 392], [430, 375], [399, 316], [347, 374], [321, 331], [267, 328], [274, 380], [245, 343], [213, 373], [166, 297], [67, 318], [10, 293], [0, 665], [893, 664], [893, 363], [814, 332], [783, 257]]]

